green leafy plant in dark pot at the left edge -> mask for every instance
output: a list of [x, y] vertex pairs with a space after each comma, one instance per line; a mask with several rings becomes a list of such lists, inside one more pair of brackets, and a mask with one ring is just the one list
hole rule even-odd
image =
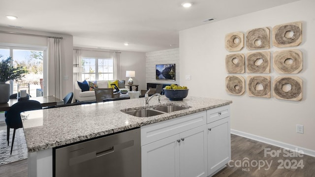
[[[3, 56], [0, 55], [0, 58]], [[0, 59], [0, 103], [6, 103], [10, 98], [10, 84], [5, 82], [9, 80], [21, 80], [28, 71], [23, 66], [10, 66], [12, 57]]]

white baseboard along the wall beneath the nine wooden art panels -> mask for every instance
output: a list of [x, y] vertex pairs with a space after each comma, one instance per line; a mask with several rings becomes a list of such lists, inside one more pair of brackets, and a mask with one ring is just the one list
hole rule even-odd
[[276, 146], [276, 147], [286, 148], [286, 149], [289, 149], [289, 150], [292, 150], [292, 151], [296, 151], [296, 149], [303, 150], [303, 152], [304, 152], [303, 154], [315, 157], [315, 150], [312, 150], [312, 149], [302, 148], [302, 147], [290, 145], [290, 144], [283, 143], [283, 142], [280, 142], [280, 141], [272, 140], [272, 139], [269, 139], [269, 138], [264, 138], [264, 137], [261, 137], [261, 136], [257, 136], [257, 135], [253, 135], [253, 134], [250, 134], [250, 133], [246, 133], [246, 132], [242, 132], [242, 131], [238, 131], [238, 130], [233, 130], [233, 129], [231, 129], [231, 134], [238, 135], [238, 136], [245, 137], [245, 138], [249, 138], [249, 139], [252, 139], [252, 140], [255, 140], [255, 141], [259, 141], [259, 142], [262, 142], [262, 143], [266, 143], [266, 144], [269, 144], [269, 145], [273, 145], [273, 146]]

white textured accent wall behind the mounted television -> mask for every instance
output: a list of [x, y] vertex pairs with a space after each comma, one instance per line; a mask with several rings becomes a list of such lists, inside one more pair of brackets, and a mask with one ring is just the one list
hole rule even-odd
[[[174, 64], [175, 81], [163, 81], [156, 79], [156, 64]], [[147, 83], [179, 84], [179, 48], [146, 53], [146, 81]]]

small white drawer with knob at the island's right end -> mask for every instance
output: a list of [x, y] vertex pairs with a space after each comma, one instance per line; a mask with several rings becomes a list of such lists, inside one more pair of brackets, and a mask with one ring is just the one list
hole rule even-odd
[[207, 110], [207, 123], [211, 123], [221, 118], [230, 116], [230, 105], [221, 106], [211, 110]]

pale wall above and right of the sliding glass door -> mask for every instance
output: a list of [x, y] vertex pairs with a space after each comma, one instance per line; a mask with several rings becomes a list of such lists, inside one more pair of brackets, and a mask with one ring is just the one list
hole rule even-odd
[[[62, 93], [63, 93], [63, 96], [65, 96], [68, 92], [73, 91], [73, 84], [72, 84], [72, 80], [73, 80], [73, 73], [72, 73], [73, 36], [66, 35], [66, 34], [43, 32], [43, 31], [15, 29], [15, 28], [1, 27], [1, 26], [0, 26], [0, 30], [63, 37], [63, 39], [61, 40], [62, 77], [63, 77]], [[45, 46], [45, 47], [47, 47], [47, 44], [48, 44], [47, 37], [7, 34], [7, 33], [1, 33], [1, 32], [0, 32], [0, 43], [18, 44], [18, 45], [32, 45], [32, 46]], [[68, 76], [68, 79], [64, 80], [64, 76]], [[61, 99], [63, 99], [63, 98], [61, 98]]]

